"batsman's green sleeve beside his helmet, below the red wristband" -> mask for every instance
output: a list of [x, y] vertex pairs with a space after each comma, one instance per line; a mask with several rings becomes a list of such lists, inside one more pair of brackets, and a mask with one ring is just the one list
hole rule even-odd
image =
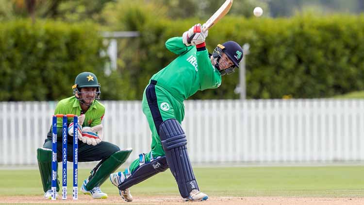
[[207, 49], [205, 47], [198, 49], [196, 58], [199, 65], [200, 89], [219, 87], [221, 85], [221, 75], [215, 66], [211, 64]]

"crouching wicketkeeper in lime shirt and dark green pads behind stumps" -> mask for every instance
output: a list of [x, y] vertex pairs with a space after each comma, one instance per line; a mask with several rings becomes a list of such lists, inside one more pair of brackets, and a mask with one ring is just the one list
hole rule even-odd
[[[100, 186], [123, 164], [129, 157], [132, 149], [120, 150], [112, 143], [102, 141], [103, 127], [101, 124], [105, 114], [105, 107], [99, 102], [100, 84], [94, 73], [82, 72], [77, 75], [72, 86], [73, 96], [58, 102], [54, 115], [74, 114], [78, 117], [78, 162], [100, 161], [91, 171], [88, 178], [83, 181], [81, 192], [89, 194], [95, 199], [107, 198]], [[57, 161], [73, 161], [73, 118], [68, 118], [67, 123], [67, 153], [62, 150], [62, 118], [57, 120]], [[81, 126], [82, 125], [82, 126]], [[37, 150], [38, 167], [42, 179], [44, 198], [51, 198], [51, 156], [52, 156], [52, 131], [47, 135], [43, 148]], [[58, 173], [58, 171], [57, 171]], [[62, 174], [61, 174], [62, 175]], [[63, 179], [62, 179], [63, 180]], [[59, 180], [57, 192], [59, 191]], [[58, 193], [56, 194], [58, 198]]]

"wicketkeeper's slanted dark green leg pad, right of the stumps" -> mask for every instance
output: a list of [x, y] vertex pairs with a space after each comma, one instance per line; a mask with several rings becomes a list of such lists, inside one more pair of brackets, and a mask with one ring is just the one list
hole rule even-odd
[[116, 153], [111, 154], [103, 162], [99, 163], [94, 170], [91, 171], [91, 176], [86, 185], [87, 190], [91, 190], [95, 187], [100, 187], [102, 183], [109, 178], [110, 174], [116, 171], [132, 153], [132, 148], [120, 150]]

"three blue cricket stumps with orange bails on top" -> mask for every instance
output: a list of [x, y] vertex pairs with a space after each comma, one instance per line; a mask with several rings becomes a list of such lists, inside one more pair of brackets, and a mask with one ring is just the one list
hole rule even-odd
[[73, 117], [73, 190], [74, 200], [78, 199], [78, 117], [73, 114], [58, 114], [52, 117], [52, 200], [57, 192], [57, 118], [62, 120], [62, 199], [67, 199], [67, 118]]

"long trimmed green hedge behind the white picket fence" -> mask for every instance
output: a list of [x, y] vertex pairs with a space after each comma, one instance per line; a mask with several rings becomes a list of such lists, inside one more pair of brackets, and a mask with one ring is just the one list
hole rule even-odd
[[[118, 70], [104, 75], [107, 59], [98, 26], [54, 21], [0, 24], [0, 101], [59, 100], [71, 95], [75, 76], [98, 75], [102, 99], [139, 100], [150, 77], [175, 57], [165, 41], [198, 19], [152, 18], [148, 12], [124, 13], [141, 36], [119, 40]], [[138, 15], [135, 15], [138, 14]], [[141, 20], [142, 19], [142, 20]], [[224, 17], [206, 40], [249, 43], [247, 97], [331, 97], [364, 89], [364, 16], [293, 18]], [[117, 28], [115, 28], [117, 30]], [[238, 73], [224, 76], [220, 88], [191, 99], [237, 99]]]

